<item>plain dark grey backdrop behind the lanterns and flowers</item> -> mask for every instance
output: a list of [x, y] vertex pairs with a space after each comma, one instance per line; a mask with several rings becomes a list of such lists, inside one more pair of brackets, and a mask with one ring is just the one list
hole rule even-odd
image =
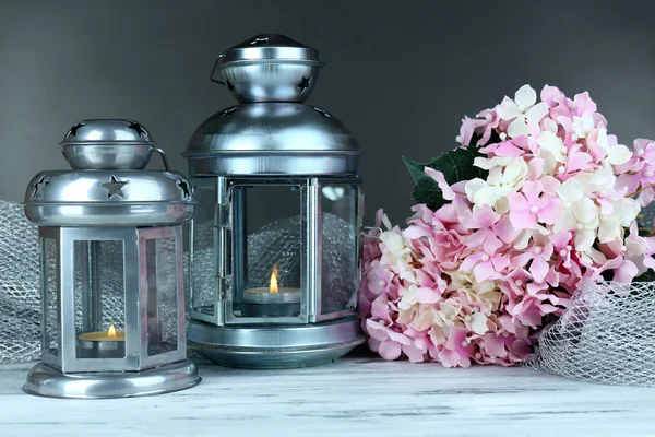
[[[179, 155], [234, 104], [207, 80], [217, 55], [283, 33], [326, 62], [311, 104], [336, 114], [367, 153], [367, 221], [410, 214], [405, 154], [455, 145], [460, 119], [524, 83], [590, 91], [622, 143], [655, 137], [650, 1], [0, 1], [0, 199], [20, 201], [82, 118], [143, 122]], [[156, 164], [159, 165], [158, 163]]]

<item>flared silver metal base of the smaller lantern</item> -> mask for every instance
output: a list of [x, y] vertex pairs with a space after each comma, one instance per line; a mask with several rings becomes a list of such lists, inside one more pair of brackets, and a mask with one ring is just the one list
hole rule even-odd
[[162, 394], [200, 382], [189, 359], [143, 371], [62, 374], [43, 363], [29, 370], [23, 391], [48, 398], [106, 399]]

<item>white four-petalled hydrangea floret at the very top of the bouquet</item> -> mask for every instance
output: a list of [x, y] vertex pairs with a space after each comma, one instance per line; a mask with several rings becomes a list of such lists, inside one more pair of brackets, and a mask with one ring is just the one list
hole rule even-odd
[[548, 106], [537, 104], [537, 93], [529, 85], [523, 85], [514, 99], [505, 98], [498, 107], [498, 115], [505, 121], [512, 121], [508, 127], [508, 135], [516, 138], [527, 135], [527, 121], [539, 122], [548, 114]]

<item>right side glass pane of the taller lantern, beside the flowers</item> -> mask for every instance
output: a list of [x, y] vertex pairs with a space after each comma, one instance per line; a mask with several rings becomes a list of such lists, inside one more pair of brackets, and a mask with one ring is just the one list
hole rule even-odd
[[321, 187], [322, 314], [355, 308], [358, 193], [358, 186], [353, 184], [324, 182]]

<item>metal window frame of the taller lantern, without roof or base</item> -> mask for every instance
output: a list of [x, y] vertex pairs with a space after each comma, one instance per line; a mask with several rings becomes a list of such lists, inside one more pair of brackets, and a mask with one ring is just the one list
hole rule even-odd
[[[190, 281], [190, 311], [191, 319], [202, 320], [207, 323], [212, 323], [218, 327], [225, 324], [250, 324], [250, 323], [317, 323], [321, 321], [329, 321], [340, 319], [348, 316], [356, 316], [356, 309], [349, 308], [341, 311], [334, 311], [329, 314], [322, 314], [321, 311], [321, 298], [322, 298], [322, 283], [321, 283], [321, 246], [322, 246], [322, 205], [320, 201], [320, 190], [323, 181], [337, 181], [344, 185], [353, 185], [357, 187], [356, 202], [357, 202], [357, 229], [361, 227], [361, 216], [364, 209], [364, 194], [361, 193], [361, 179], [356, 176], [348, 177], [202, 177], [202, 178], [190, 178], [189, 181], [193, 188], [199, 186], [214, 187], [216, 188], [216, 216], [214, 227], [214, 241], [215, 248], [219, 248], [216, 251], [215, 270], [216, 270], [216, 296], [214, 302], [214, 314], [207, 315], [202, 311], [196, 311], [193, 303], [195, 297], [195, 287], [193, 281]], [[296, 317], [237, 317], [233, 311], [233, 298], [234, 288], [229, 286], [231, 284], [231, 274], [235, 271], [242, 271], [245, 262], [241, 257], [235, 255], [241, 252], [238, 245], [245, 244], [246, 236], [240, 233], [243, 231], [243, 226], [235, 226], [235, 216], [242, 215], [243, 205], [238, 201], [233, 202], [234, 188], [240, 186], [248, 187], [260, 187], [260, 186], [275, 186], [275, 187], [293, 187], [300, 186], [300, 208], [299, 214], [302, 220], [302, 233], [305, 236], [306, 245], [302, 245], [301, 253], [301, 307], [300, 314]], [[302, 210], [301, 205], [306, 208]], [[357, 231], [355, 231], [357, 234]], [[194, 221], [190, 224], [190, 238], [189, 238], [189, 269], [194, 269], [194, 250], [193, 250], [193, 236], [194, 236]], [[231, 241], [231, 245], [229, 244]], [[358, 237], [356, 235], [356, 241]], [[359, 259], [359, 244], [356, 247], [355, 259]], [[235, 287], [240, 286], [236, 284]]]

